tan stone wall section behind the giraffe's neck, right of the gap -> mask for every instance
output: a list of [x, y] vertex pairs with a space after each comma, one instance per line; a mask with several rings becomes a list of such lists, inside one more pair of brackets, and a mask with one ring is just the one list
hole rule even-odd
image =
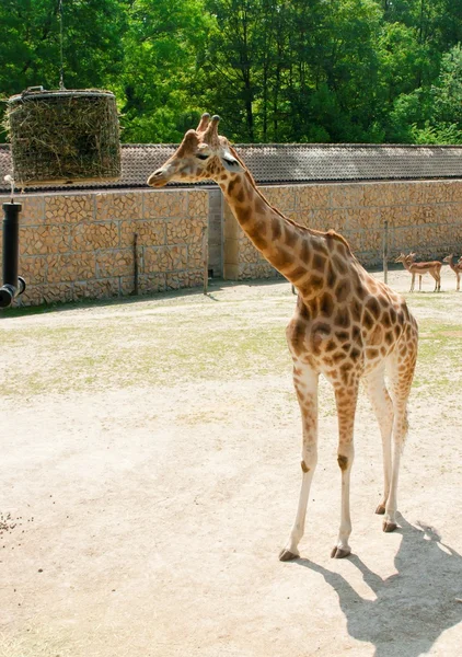
[[[382, 263], [389, 222], [390, 261], [400, 251], [420, 258], [462, 253], [462, 181], [307, 184], [262, 187], [287, 217], [342, 233], [365, 266]], [[224, 204], [224, 277], [269, 278], [275, 269], [254, 249]]]

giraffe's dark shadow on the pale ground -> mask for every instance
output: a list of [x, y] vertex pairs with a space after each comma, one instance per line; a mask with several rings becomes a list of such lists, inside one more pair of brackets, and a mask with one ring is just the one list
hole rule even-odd
[[396, 574], [382, 579], [358, 556], [349, 557], [376, 600], [361, 598], [338, 573], [304, 558], [294, 562], [323, 575], [338, 596], [349, 635], [372, 643], [374, 657], [419, 657], [462, 621], [462, 556], [434, 528], [413, 527], [403, 516], [399, 521]]

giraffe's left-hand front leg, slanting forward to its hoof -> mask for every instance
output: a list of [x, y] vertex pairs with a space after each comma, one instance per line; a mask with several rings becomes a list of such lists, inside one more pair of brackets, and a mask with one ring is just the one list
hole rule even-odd
[[302, 480], [296, 521], [293, 522], [286, 546], [279, 553], [280, 561], [290, 561], [300, 556], [298, 545], [304, 533], [308, 498], [317, 463], [317, 379], [319, 374], [311, 368], [296, 362], [293, 367], [293, 383], [303, 425], [301, 450]]

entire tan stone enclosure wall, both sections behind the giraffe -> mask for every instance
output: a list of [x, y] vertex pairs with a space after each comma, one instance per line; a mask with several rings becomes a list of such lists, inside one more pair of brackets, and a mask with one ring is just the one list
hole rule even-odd
[[[414, 250], [423, 258], [462, 251], [462, 180], [262, 186], [290, 219], [340, 232], [366, 267]], [[9, 196], [0, 196], [5, 203]], [[18, 194], [20, 303], [104, 299], [203, 285], [203, 231], [209, 269], [229, 280], [277, 273], [240, 229], [217, 187]], [[134, 235], [137, 246], [134, 247]]]

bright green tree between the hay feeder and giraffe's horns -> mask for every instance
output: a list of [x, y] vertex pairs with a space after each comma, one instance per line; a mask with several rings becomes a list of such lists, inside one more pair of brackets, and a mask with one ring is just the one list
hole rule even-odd
[[118, 82], [125, 141], [177, 141], [200, 115], [212, 18], [201, 0], [135, 0]]

